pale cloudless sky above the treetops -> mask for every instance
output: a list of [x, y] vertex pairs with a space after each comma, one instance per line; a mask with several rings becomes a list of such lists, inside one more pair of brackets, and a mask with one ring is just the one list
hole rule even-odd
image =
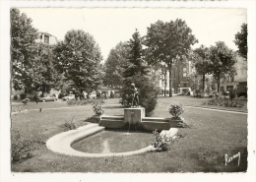
[[20, 8], [32, 19], [32, 26], [63, 40], [68, 30], [84, 30], [94, 36], [103, 60], [111, 48], [127, 41], [135, 30], [146, 35], [147, 28], [158, 20], [162, 22], [182, 19], [201, 44], [215, 45], [217, 41], [237, 50], [234, 34], [247, 23], [246, 9], [215, 8]]

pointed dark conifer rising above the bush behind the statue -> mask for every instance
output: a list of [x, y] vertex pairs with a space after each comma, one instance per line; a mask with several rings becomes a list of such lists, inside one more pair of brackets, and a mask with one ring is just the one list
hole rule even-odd
[[143, 57], [142, 37], [136, 30], [128, 41], [130, 51], [128, 54], [128, 65], [124, 66], [123, 77], [144, 76], [148, 74], [148, 65]]

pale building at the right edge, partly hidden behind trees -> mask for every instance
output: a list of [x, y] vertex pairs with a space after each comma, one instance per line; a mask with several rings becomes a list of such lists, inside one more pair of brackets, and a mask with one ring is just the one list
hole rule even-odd
[[239, 95], [247, 96], [247, 61], [236, 53], [235, 74], [225, 74], [221, 78], [220, 91], [239, 92]]

